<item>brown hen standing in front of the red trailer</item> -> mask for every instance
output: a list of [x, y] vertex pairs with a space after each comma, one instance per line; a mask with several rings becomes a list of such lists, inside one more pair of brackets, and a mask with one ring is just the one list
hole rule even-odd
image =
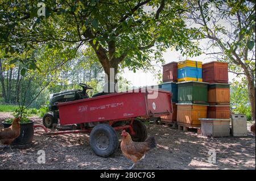
[[154, 136], [147, 138], [145, 142], [134, 142], [125, 130], [122, 131], [121, 136], [123, 137], [121, 142], [122, 153], [126, 158], [133, 161], [133, 165], [129, 169], [133, 169], [135, 164], [145, 157], [146, 152], [156, 146]]

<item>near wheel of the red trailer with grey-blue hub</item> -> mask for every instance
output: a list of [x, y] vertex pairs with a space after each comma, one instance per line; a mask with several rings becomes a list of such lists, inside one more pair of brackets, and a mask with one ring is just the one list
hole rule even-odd
[[109, 157], [118, 148], [118, 136], [108, 124], [98, 124], [90, 132], [90, 147], [100, 157]]

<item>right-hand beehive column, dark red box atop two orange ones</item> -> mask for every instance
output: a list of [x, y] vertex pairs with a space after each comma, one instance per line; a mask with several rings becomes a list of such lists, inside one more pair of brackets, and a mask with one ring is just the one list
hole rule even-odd
[[203, 81], [208, 86], [207, 118], [229, 119], [230, 89], [228, 83], [228, 64], [224, 62], [209, 62], [203, 64]]

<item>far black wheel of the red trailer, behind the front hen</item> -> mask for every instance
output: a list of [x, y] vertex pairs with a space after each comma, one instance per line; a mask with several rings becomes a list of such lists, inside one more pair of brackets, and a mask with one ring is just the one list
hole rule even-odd
[[[136, 142], [143, 142], [147, 138], [147, 128], [140, 120], [133, 121], [133, 131], [135, 132], [134, 135], [131, 135], [131, 139]], [[127, 132], [130, 133], [129, 129]]]

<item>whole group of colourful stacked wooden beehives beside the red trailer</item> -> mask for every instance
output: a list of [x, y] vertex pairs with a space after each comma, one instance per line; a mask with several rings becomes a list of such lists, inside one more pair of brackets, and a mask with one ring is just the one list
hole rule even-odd
[[161, 121], [200, 127], [200, 118], [229, 118], [228, 64], [200, 61], [163, 65], [162, 89], [172, 92], [173, 112]]

